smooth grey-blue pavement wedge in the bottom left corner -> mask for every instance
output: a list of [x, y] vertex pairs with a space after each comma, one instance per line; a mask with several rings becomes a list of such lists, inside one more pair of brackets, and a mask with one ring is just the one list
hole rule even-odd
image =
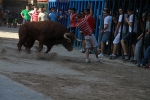
[[0, 100], [52, 100], [0, 74]]

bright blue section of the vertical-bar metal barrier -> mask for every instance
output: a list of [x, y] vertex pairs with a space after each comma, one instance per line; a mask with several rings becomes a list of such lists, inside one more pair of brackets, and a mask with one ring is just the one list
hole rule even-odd
[[[51, 7], [56, 7], [57, 11], [59, 11], [60, 9], [63, 10], [63, 12], [65, 10], [67, 10], [68, 8], [75, 8], [77, 13], [80, 13], [81, 11], [83, 11], [84, 9], [86, 9], [88, 7], [88, 5], [90, 5], [92, 7], [93, 10], [93, 17], [95, 19], [96, 25], [95, 25], [95, 37], [98, 41], [98, 44], [100, 44], [100, 30], [102, 29], [102, 16], [103, 13], [102, 11], [104, 10], [104, 4], [105, 4], [105, 0], [49, 0], [49, 8]], [[70, 24], [70, 20], [69, 20], [70, 16], [68, 16], [68, 21], [64, 21], [65, 26], [68, 27], [68, 25]], [[79, 30], [76, 29], [76, 33], [75, 35], [80, 38], [80, 33]], [[78, 43], [77, 41], [75, 41], [74, 46], [76, 47], [81, 47], [82, 44]]]

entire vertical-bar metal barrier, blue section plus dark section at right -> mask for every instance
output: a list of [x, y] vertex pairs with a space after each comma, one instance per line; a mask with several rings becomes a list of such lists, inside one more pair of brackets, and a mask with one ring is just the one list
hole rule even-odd
[[[124, 10], [127, 9], [127, 7], [133, 7], [134, 11], [135, 11], [134, 14], [136, 14], [138, 16], [138, 20], [140, 20], [141, 16], [142, 16], [142, 12], [144, 11], [143, 9], [145, 8], [145, 10], [148, 11], [149, 10], [148, 8], [150, 8], [148, 1], [149, 0], [146, 0], [146, 1], [144, 1], [144, 0], [49, 0], [49, 8], [56, 7], [58, 10], [62, 9], [63, 11], [68, 8], [75, 8], [77, 13], [79, 13], [79, 12], [83, 11], [84, 9], [86, 9], [88, 7], [88, 5], [90, 5], [92, 7], [93, 17], [96, 22], [94, 34], [95, 34], [95, 37], [100, 46], [100, 41], [101, 41], [100, 31], [103, 27], [102, 11], [104, 10], [104, 8], [108, 8], [111, 11], [110, 15], [114, 16], [115, 13], [118, 12], [119, 7], [123, 7]], [[144, 6], [144, 5], [146, 5], [146, 6]], [[65, 24], [66, 27], [68, 27], [68, 25], [70, 24], [69, 18], [70, 17], [68, 16], [68, 21]], [[114, 36], [113, 36], [113, 28], [114, 27], [115, 27], [115, 25], [112, 24], [111, 40], [109, 43], [109, 48], [107, 48], [107, 49], [109, 49], [109, 54], [111, 53], [112, 41], [114, 39]], [[139, 25], [138, 25], [138, 29], [139, 29]], [[121, 34], [122, 34], [122, 32], [121, 32]], [[144, 34], [145, 34], [145, 31], [144, 31]], [[79, 33], [79, 29], [76, 29], [75, 35], [78, 38], [81, 37], [81, 35]], [[120, 37], [120, 39], [121, 38], [122, 37]], [[79, 43], [77, 41], [75, 41], [74, 43], [75, 43], [74, 44], [75, 47], [81, 48], [81, 46], [82, 46], [81, 43]], [[143, 39], [142, 43], [144, 43], [144, 39]], [[130, 47], [129, 55], [131, 55], [131, 44], [129, 45], [129, 47]], [[142, 44], [142, 49], [143, 49], [143, 44]], [[119, 55], [121, 55], [121, 44], [120, 44], [119, 51], [120, 51]]]

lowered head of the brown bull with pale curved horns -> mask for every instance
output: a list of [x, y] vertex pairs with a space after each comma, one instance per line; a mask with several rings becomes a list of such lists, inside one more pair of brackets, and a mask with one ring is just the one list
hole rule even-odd
[[73, 50], [73, 43], [74, 43], [74, 39], [76, 39], [77, 41], [81, 41], [79, 39], [77, 39], [73, 33], [65, 33], [64, 34], [64, 38], [66, 39], [66, 41], [63, 43], [63, 46], [68, 50], [68, 51], [72, 51]]

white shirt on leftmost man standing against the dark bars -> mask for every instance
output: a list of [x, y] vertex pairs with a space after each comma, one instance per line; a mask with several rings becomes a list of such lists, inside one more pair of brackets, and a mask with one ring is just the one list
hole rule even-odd
[[112, 16], [108, 15], [104, 18], [104, 28], [106, 27], [106, 24], [108, 24], [108, 28], [104, 32], [110, 32], [111, 31], [111, 23], [112, 23]]

